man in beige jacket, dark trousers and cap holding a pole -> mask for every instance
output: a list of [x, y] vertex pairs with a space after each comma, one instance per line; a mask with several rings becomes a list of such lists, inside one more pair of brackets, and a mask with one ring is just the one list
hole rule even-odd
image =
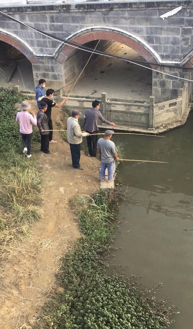
[[90, 136], [89, 133], [82, 133], [78, 118], [82, 113], [72, 111], [72, 116], [67, 119], [67, 140], [70, 144], [73, 168], [83, 170], [80, 165], [82, 137]]

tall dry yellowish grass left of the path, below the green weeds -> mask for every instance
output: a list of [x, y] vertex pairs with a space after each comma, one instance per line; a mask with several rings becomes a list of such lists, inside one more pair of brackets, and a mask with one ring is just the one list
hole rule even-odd
[[30, 223], [40, 218], [42, 180], [36, 164], [11, 150], [7, 166], [0, 161], [0, 245], [26, 234]]

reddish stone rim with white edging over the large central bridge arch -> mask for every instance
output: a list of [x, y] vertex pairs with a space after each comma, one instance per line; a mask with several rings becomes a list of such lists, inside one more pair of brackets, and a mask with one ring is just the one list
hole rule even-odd
[[[144, 40], [132, 33], [112, 27], [94, 26], [77, 31], [67, 38], [78, 44], [84, 44], [93, 40], [112, 40], [120, 42], [135, 50], [147, 62], [161, 63], [161, 58], [155, 50]], [[63, 64], [75, 48], [70, 45], [60, 45], [55, 52], [56, 61]], [[157, 65], [151, 65], [153, 68]]]

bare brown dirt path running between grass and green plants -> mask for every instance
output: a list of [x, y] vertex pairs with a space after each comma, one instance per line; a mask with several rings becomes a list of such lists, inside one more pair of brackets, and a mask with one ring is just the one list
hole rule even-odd
[[[35, 107], [35, 102], [32, 101]], [[36, 111], [37, 112], [37, 111]], [[53, 121], [64, 126], [59, 109]], [[55, 127], [57, 129], [57, 127]], [[55, 274], [62, 256], [80, 236], [68, 200], [77, 194], [89, 194], [99, 188], [99, 160], [81, 154], [84, 170], [72, 168], [69, 145], [58, 141], [50, 146], [51, 155], [36, 151], [45, 189], [42, 219], [12, 246], [4, 271], [0, 273], [0, 329], [29, 329], [42, 304], [56, 290]], [[45, 177], [44, 177], [45, 174]]]

